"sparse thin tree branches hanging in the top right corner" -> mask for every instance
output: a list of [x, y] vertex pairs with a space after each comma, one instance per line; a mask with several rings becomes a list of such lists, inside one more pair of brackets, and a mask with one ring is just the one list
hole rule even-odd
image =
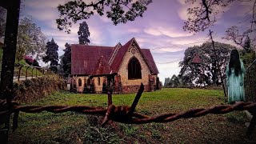
[[223, 12], [226, 6], [229, 6], [231, 2], [254, 2], [250, 8], [252, 16], [250, 17], [251, 26], [250, 29], [244, 32], [239, 32], [238, 26], [231, 26], [226, 30], [225, 39], [231, 40], [238, 46], [244, 47], [246, 38], [250, 36], [252, 40], [252, 45], [255, 47], [256, 40], [256, 0], [186, 0], [187, 4], [192, 4], [194, 7], [188, 8], [187, 14], [189, 18], [183, 26], [183, 30], [190, 31], [191, 33], [198, 33], [199, 31], [204, 31], [210, 26], [214, 25], [216, 22], [216, 16]]

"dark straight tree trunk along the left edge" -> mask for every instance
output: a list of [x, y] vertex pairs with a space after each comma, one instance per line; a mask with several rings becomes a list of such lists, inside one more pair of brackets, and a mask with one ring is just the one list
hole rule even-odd
[[[13, 98], [14, 63], [18, 34], [20, 0], [1, 2], [0, 5], [7, 9], [6, 33], [2, 55], [0, 98], [6, 99], [8, 109], [10, 106], [10, 101]], [[4, 124], [2, 130], [0, 130], [0, 142], [7, 143], [8, 131], [10, 127], [10, 114], [3, 116], [0, 121], [0, 124]]]

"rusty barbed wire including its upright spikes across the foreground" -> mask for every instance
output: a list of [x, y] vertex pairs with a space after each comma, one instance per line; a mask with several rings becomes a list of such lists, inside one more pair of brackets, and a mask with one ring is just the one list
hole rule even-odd
[[19, 106], [18, 102], [11, 102], [10, 106], [7, 105], [5, 100], [0, 100], [0, 106], [5, 107], [0, 111], [0, 116], [4, 114], [14, 113], [13, 126], [14, 130], [18, 127], [18, 113], [20, 111], [26, 113], [40, 113], [42, 111], [48, 111], [52, 113], [64, 113], [67, 111], [78, 112], [82, 114], [96, 114], [105, 117], [102, 121], [102, 126], [105, 126], [108, 121], [122, 122], [126, 124], [143, 124], [150, 122], [173, 122], [180, 118], [198, 118], [206, 114], [227, 114], [234, 110], [248, 110], [253, 118], [250, 122], [250, 126], [247, 130], [247, 135], [250, 135], [254, 130], [256, 124], [256, 102], [236, 102], [234, 105], [220, 105], [211, 108], [190, 109], [179, 114], [159, 114], [156, 116], [147, 116], [144, 114], [135, 113], [135, 108], [138, 104], [144, 86], [141, 85], [134, 102], [131, 106], [114, 106], [112, 102], [112, 95], [109, 93], [109, 106], [107, 108], [94, 107], [94, 106]]

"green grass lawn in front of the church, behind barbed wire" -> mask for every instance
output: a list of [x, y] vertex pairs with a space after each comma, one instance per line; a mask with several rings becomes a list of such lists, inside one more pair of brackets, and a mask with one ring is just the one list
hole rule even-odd
[[[128, 105], [135, 94], [113, 95], [114, 105]], [[154, 116], [180, 113], [190, 108], [207, 108], [224, 103], [221, 90], [162, 89], [143, 93], [137, 112]], [[106, 94], [58, 92], [29, 105], [107, 106]], [[18, 130], [10, 132], [10, 143], [247, 143], [246, 114], [208, 114], [200, 118], [168, 123], [127, 125], [102, 117], [66, 112], [20, 113]]]

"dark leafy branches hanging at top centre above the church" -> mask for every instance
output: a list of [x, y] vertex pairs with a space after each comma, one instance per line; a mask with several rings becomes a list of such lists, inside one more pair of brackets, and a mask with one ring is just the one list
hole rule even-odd
[[64, 5], [58, 5], [59, 18], [56, 19], [58, 30], [65, 30], [70, 33], [72, 23], [90, 18], [98, 13], [100, 16], [106, 14], [114, 25], [134, 21], [137, 17], [142, 17], [152, 0], [98, 0], [83, 2], [73, 0]]

